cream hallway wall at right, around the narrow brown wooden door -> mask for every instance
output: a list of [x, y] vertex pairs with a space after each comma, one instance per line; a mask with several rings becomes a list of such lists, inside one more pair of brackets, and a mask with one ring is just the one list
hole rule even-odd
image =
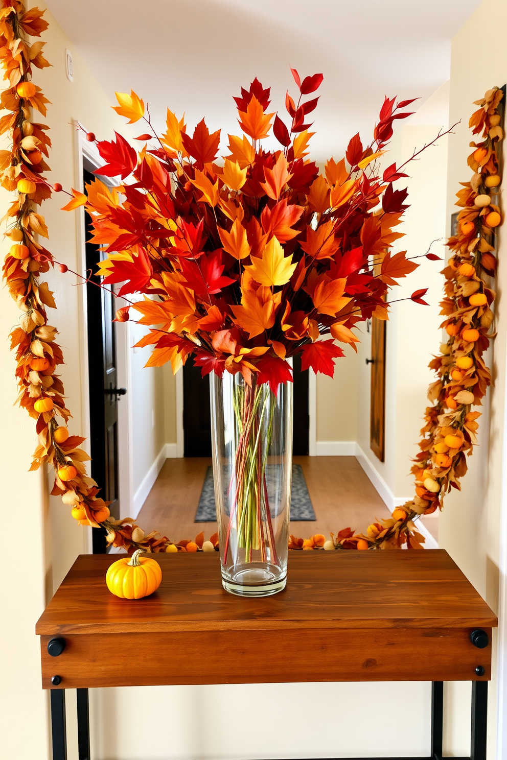
[[[398, 125], [385, 163], [396, 161], [399, 166], [415, 148], [423, 147], [447, 125], [448, 100], [446, 87], [439, 88], [420, 106], [417, 113], [404, 125]], [[403, 223], [396, 229], [404, 237], [395, 242], [393, 252], [407, 250], [409, 257], [423, 255], [434, 242], [432, 252], [445, 257], [442, 238], [445, 236], [445, 188], [447, 166], [447, 140], [429, 147], [420, 160], [410, 163], [407, 179], [396, 187], [408, 188], [410, 208]], [[391, 306], [386, 333], [385, 377], [385, 461], [381, 462], [369, 448], [369, 378], [370, 369], [365, 359], [369, 356], [370, 336], [360, 346], [358, 356], [359, 397], [365, 403], [357, 405], [358, 443], [375, 473], [387, 486], [392, 500], [407, 498], [412, 489], [410, 458], [417, 453], [417, 441], [426, 407], [426, 392], [433, 373], [428, 363], [439, 347], [439, 300], [442, 296], [443, 261], [419, 258], [420, 267], [400, 281], [389, 293], [389, 301], [410, 298], [414, 290], [427, 287], [425, 300], [429, 306], [401, 301]], [[394, 503], [394, 502], [393, 502]]]

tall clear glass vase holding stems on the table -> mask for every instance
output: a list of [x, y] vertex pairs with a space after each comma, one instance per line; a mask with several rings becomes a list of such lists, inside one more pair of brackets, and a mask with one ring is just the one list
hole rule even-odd
[[[253, 373], [252, 373], [253, 374]], [[211, 442], [222, 583], [265, 597], [287, 581], [292, 383], [252, 386], [237, 373], [210, 377]]]

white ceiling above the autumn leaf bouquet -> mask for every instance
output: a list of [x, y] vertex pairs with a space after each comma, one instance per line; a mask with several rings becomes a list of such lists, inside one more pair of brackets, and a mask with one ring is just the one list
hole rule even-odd
[[[448, 79], [451, 39], [480, 0], [47, 0], [97, 79], [132, 87], [160, 127], [169, 106], [187, 131], [205, 116], [237, 134], [233, 95], [257, 76], [284, 111], [290, 65], [322, 72], [312, 156], [369, 138], [384, 95], [423, 103]], [[288, 121], [288, 117], [287, 117]], [[93, 128], [93, 125], [91, 125]], [[141, 132], [144, 131], [141, 128]], [[101, 135], [102, 138], [108, 136]]]

